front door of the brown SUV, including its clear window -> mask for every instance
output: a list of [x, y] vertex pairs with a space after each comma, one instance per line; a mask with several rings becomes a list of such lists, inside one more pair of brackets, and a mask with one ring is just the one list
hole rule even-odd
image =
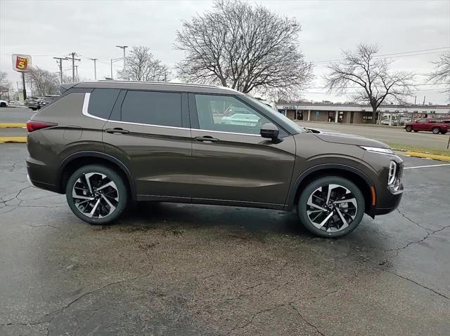
[[281, 130], [279, 143], [261, 137], [261, 126], [271, 121], [231, 95], [190, 94], [189, 110], [193, 202], [283, 206], [295, 161], [293, 136]]

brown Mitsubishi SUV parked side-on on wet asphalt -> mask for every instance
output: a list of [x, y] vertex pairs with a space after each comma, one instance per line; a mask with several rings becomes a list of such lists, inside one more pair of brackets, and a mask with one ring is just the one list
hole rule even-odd
[[390, 213], [403, 164], [383, 142], [300, 127], [236, 90], [178, 83], [64, 84], [27, 123], [27, 170], [106, 224], [133, 201], [297, 209], [318, 236]]

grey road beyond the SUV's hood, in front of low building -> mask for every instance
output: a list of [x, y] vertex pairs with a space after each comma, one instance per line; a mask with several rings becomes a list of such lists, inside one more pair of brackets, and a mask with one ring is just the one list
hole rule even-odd
[[393, 142], [401, 145], [420, 146], [445, 149], [450, 133], [433, 134], [431, 132], [406, 132], [403, 127], [363, 126], [357, 123], [311, 123], [299, 121], [300, 125], [309, 128], [331, 130], [333, 132], [356, 134], [382, 142]]

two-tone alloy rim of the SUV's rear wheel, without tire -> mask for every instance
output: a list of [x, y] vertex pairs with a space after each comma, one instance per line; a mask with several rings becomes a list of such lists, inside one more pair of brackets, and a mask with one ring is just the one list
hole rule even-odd
[[119, 191], [105, 174], [84, 173], [73, 185], [72, 199], [83, 215], [104, 218], [117, 208]]

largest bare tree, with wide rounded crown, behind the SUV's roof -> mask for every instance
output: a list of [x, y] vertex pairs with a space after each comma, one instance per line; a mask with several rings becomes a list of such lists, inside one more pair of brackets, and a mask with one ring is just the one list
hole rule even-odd
[[311, 78], [298, 46], [300, 24], [263, 6], [216, 0], [214, 10], [184, 21], [175, 48], [184, 51], [181, 79], [218, 83], [243, 93], [295, 92]]

